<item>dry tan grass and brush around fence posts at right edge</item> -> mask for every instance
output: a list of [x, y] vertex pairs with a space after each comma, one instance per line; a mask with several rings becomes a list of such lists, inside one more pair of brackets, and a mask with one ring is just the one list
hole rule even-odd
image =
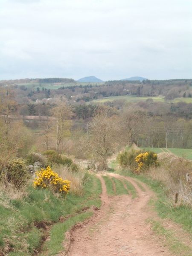
[[163, 181], [166, 195], [173, 200], [178, 193], [178, 204], [192, 206], [192, 162], [167, 153], [158, 154], [158, 160], [160, 167], [151, 168], [150, 175]]

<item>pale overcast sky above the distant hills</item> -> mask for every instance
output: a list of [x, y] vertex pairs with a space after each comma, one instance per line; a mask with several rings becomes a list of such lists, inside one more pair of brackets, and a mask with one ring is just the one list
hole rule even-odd
[[192, 78], [192, 0], [0, 0], [0, 80]]

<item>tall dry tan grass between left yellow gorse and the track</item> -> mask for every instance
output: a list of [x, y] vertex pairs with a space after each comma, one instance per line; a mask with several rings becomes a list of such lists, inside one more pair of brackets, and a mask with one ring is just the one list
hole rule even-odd
[[69, 167], [61, 164], [55, 164], [52, 169], [58, 173], [63, 179], [70, 180], [70, 193], [82, 196], [83, 183], [86, 177], [86, 171], [79, 168], [79, 172], [72, 172]]

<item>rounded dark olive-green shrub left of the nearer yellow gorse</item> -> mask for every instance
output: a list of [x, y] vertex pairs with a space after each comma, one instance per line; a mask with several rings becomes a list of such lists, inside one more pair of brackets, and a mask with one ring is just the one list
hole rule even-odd
[[30, 177], [25, 162], [19, 158], [11, 160], [3, 174], [17, 188], [25, 185]]

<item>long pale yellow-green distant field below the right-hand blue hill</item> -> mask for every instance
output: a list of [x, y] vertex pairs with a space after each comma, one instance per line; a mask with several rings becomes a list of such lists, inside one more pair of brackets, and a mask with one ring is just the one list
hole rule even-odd
[[146, 99], [153, 99], [155, 102], [164, 102], [164, 96], [136, 97], [136, 96], [133, 96], [133, 95], [105, 97], [105, 98], [102, 98], [102, 99], [94, 99], [93, 102], [104, 103], [104, 102], [112, 102], [114, 100], [120, 100], [120, 99], [124, 99], [127, 102], [140, 102], [140, 101], [145, 101]]

